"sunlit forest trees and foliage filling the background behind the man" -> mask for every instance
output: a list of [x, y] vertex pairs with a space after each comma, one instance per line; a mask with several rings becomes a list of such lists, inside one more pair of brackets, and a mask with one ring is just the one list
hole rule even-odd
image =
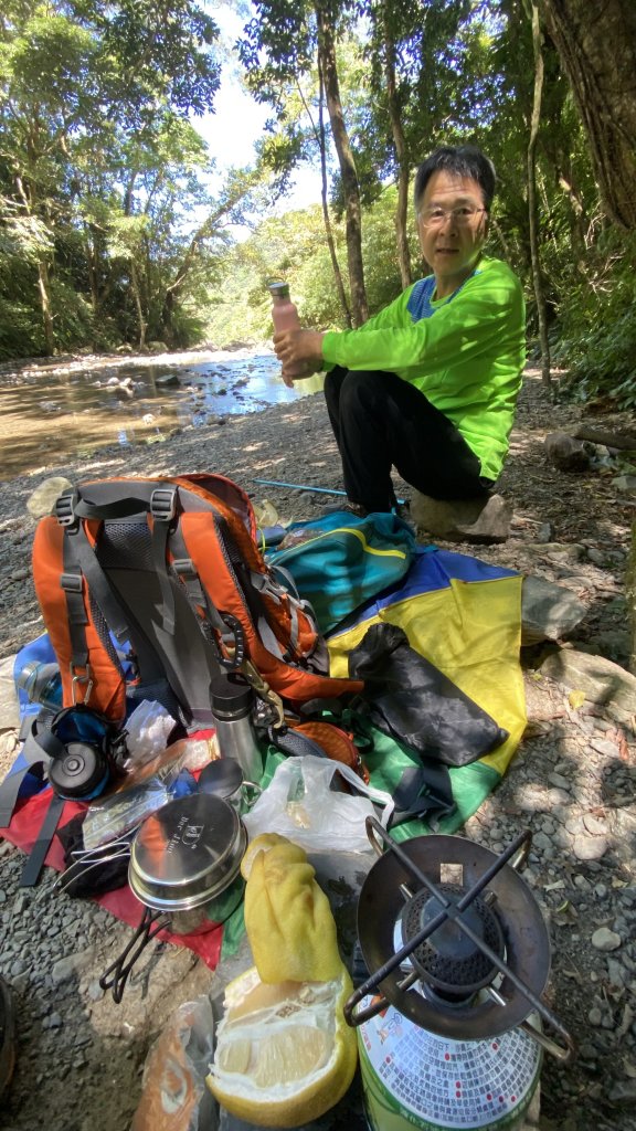
[[[607, 18], [627, 66], [636, 28], [621, 3]], [[281, 276], [306, 325], [361, 325], [427, 273], [410, 201], [416, 165], [470, 140], [498, 171], [488, 250], [524, 283], [544, 375], [551, 361], [581, 400], [636, 404], [634, 182], [617, 169], [608, 190], [593, 113], [582, 116], [586, 72], [575, 63], [596, 66], [584, 0], [235, 8], [235, 66], [270, 118], [252, 166], [213, 190], [226, 155], [209, 152], [197, 121], [214, 113], [220, 86], [218, 11], [195, 0], [6, 0], [0, 360], [263, 340], [266, 284]], [[624, 83], [616, 97], [625, 137], [636, 94]], [[609, 107], [612, 92], [603, 98]], [[321, 174], [323, 204], [282, 216], [272, 206], [303, 164]], [[248, 239], [232, 239], [235, 223], [249, 223]]]

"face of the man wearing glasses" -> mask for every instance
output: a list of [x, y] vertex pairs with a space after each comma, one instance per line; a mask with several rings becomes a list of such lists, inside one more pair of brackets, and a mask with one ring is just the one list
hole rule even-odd
[[[488, 234], [483, 193], [472, 176], [433, 173], [420, 198], [418, 231], [439, 299], [472, 274]], [[440, 218], [440, 211], [445, 213]], [[473, 214], [471, 215], [471, 213]]]

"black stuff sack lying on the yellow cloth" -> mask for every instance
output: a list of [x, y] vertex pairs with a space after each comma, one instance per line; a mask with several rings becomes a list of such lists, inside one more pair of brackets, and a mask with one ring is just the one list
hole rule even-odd
[[396, 624], [372, 624], [349, 657], [364, 680], [363, 714], [420, 758], [469, 766], [508, 737], [491, 716], [409, 644]]

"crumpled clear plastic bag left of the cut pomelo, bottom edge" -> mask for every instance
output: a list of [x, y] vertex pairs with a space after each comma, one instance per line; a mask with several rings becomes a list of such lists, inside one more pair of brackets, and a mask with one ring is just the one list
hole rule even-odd
[[179, 1007], [151, 1048], [130, 1131], [215, 1131], [218, 1110], [205, 1082], [213, 1046], [214, 1017], [203, 994]]

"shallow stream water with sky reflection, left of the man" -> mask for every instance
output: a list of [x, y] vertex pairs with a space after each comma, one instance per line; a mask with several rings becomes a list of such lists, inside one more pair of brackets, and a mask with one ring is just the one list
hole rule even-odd
[[104, 446], [161, 443], [174, 429], [295, 402], [323, 382], [289, 389], [280, 374], [274, 354], [247, 348], [16, 364], [0, 374], [0, 480]]

